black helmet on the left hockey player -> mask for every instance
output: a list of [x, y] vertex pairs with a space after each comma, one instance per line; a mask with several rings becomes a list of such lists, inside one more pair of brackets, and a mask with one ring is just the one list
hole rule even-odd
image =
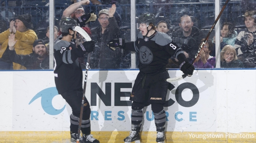
[[74, 30], [76, 26], [79, 26], [79, 24], [73, 18], [66, 17], [66, 18], [62, 18], [59, 21], [59, 29], [63, 33], [69, 33], [69, 28]]

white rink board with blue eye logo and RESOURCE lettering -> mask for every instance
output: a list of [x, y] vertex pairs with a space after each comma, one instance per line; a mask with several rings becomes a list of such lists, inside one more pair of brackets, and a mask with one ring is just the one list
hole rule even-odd
[[[168, 72], [171, 77], [182, 75], [179, 70]], [[129, 97], [138, 73], [138, 70], [89, 71], [86, 97], [91, 105], [93, 133], [98, 132], [100, 137], [109, 137], [111, 133], [116, 137], [129, 134]], [[61, 139], [69, 135], [69, 115], [72, 111], [58, 95], [52, 71], [1, 72], [0, 77], [0, 131], [5, 133], [2, 137], [32, 131], [38, 134], [47, 131], [64, 133]], [[225, 135], [256, 132], [256, 70], [197, 70], [192, 77], [174, 82], [173, 85], [174, 88], [168, 90], [165, 104], [166, 130], [173, 140], [182, 137], [192, 141], [188, 133]], [[145, 107], [143, 112], [142, 135], [154, 134], [151, 106]], [[59, 139], [59, 135], [57, 137]], [[155, 135], [143, 137], [155, 140]], [[197, 139], [193, 138], [199, 142], [200, 139]], [[223, 140], [229, 138], [224, 136]], [[244, 138], [242, 140], [246, 141]]]

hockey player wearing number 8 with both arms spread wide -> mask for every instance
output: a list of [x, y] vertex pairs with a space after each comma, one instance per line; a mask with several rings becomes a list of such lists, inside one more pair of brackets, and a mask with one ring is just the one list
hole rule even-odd
[[140, 143], [140, 124], [143, 120], [142, 109], [151, 104], [154, 113], [155, 126], [157, 130], [157, 143], [164, 143], [166, 114], [163, 110], [165, 102], [169, 74], [165, 69], [168, 59], [174, 55], [179, 61], [180, 70], [191, 76], [194, 66], [191, 65], [181, 48], [179, 48], [168, 34], [155, 31], [155, 16], [145, 13], [137, 20], [140, 33], [134, 42], [126, 42], [125, 39], [113, 39], [108, 46], [115, 50], [117, 47], [139, 54], [139, 74], [136, 77], [131, 92], [131, 132], [124, 139], [125, 143], [136, 141]]

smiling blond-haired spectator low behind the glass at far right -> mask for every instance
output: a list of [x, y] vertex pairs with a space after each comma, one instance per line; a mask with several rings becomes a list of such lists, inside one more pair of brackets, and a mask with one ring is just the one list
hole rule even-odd
[[244, 68], [244, 64], [236, 56], [235, 48], [231, 45], [226, 45], [221, 50], [221, 68]]

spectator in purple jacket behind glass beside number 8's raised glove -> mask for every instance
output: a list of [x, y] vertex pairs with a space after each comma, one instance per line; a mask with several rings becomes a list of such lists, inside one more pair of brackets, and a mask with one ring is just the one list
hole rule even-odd
[[[201, 43], [199, 46], [203, 44], [203, 41], [205, 39], [201, 40]], [[198, 47], [199, 48], [199, 47]], [[211, 41], [207, 40], [204, 44], [202, 51], [198, 55], [197, 59], [195, 60], [194, 66], [197, 69], [213, 69], [216, 64], [215, 57], [210, 56], [210, 52], [213, 49], [213, 44]]]

